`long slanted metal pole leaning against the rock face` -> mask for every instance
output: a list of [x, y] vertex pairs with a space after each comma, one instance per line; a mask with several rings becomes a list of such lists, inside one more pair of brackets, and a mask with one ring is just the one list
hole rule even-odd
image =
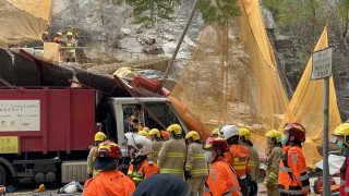
[[194, 15], [195, 15], [195, 12], [196, 12], [196, 10], [197, 10], [198, 2], [200, 2], [200, 0], [195, 0], [194, 8], [192, 9], [192, 11], [191, 11], [191, 13], [190, 13], [190, 16], [189, 16], [189, 19], [188, 19], [188, 21], [186, 21], [185, 27], [184, 27], [184, 29], [183, 29], [183, 32], [182, 32], [181, 38], [179, 39], [179, 42], [177, 44], [176, 50], [174, 50], [174, 52], [173, 52], [173, 54], [172, 54], [172, 58], [171, 58], [170, 62], [168, 63], [167, 69], [166, 69], [166, 71], [165, 71], [165, 74], [164, 74], [164, 76], [163, 76], [163, 78], [161, 78], [161, 85], [160, 85], [159, 91], [160, 91], [161, 88], [163, 88], [163, 84], [166, 83], [166, 79], [167, 79], [167, 76], [168, 76], [168, 72], [169, 72], [170, 68], [173, 65], [174, 59], [176, 59], [176, 57], [177, 57], [177, 53], [178, 53], [179, 49], [181, 48], [181, 45], [182, 45], [182, 42], [183, 42], [183, 39], [184, 39], [184, 37], [185, 37], [185, 35], [186, 35], [188, 28], [189, 28], [189, 26], [190, 26], [190, 24], [191, 24], [191, 22], [192, 22], [192, 20], [193, 20], [193, 17], [194, 17]]

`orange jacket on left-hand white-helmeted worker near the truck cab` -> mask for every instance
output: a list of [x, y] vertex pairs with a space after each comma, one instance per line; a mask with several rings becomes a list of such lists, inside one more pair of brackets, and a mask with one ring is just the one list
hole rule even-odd
[[155, 173], [160, 173], [160, 169], [151, 159], [145, 159], [137, 170], [135, 170], [134, 164], [131, 164], [128, 171], [128, 175], [132, 177], [135, 185]]

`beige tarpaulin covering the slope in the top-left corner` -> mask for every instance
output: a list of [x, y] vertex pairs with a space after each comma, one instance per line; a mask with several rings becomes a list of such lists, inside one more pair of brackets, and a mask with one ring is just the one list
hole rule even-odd
[[0, 46], [40, 40], [52, 0], [0, 0]]

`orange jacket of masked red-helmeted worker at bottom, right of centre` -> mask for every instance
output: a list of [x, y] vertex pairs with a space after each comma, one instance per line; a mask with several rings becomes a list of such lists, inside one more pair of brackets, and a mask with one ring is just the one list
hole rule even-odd
[[239, 196], [240, 186], [237, 174], [222, 158], [218, 158], [218, 161], [209, 169], [204, 192], [204, 196]]

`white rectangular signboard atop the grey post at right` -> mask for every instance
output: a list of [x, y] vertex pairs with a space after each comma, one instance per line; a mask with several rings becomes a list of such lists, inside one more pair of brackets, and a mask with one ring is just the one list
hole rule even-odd
[[333, 48], [315, 51], [313, 53], [313, 72], [311, 79], [320, 79], [332, 75]]

